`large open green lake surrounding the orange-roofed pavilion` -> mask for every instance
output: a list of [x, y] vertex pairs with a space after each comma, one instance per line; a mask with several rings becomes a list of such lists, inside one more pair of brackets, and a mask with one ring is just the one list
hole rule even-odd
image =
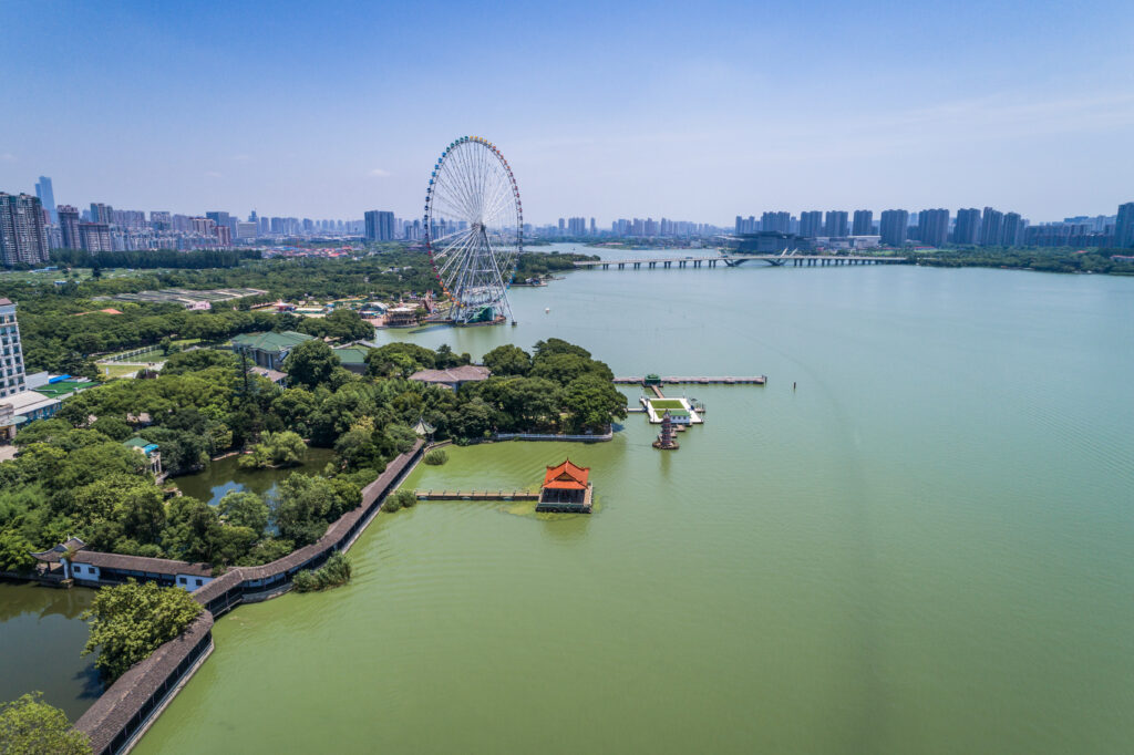
[[598, 511], [382, 515], [348, 586], [221, 619], [136, 753], [1129, 752], [1134, 280], [593, 271], [513, 305], [379, 337], [770, 382], [686, 389], [708, 413], [678, 451], [642, 415], [450, 449], [409, 484], [569, 455]]

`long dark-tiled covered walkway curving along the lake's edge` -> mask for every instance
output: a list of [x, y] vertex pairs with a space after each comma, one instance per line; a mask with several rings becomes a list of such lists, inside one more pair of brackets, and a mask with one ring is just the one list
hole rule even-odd
[[193, 597], [205, 609], [201, 616], [179, 637], [119, 677], [75, 722], [75, 728], [90, 737], [95, 755], [129, 752], [154, 715], [212, 652], [215, 618], [240, 603], [286, 593], [297, 571], [318, 568], [331, 553], [350, 548], [378, 515], [387, 494], [421, 460], [424, 448], [418, 440], [411, 450], [390, 461], [378, 480], [363, 487], [362, 503], [331, 523], [318, 542], [264, 566], [234, 568], [195, 591]]

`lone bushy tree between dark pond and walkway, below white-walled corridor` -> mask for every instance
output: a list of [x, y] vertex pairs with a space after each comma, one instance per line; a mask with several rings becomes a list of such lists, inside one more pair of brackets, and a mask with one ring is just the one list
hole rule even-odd
[[111, 684], [132, 665], [180, 635], [201, 613], [201, 605], [180, 587], [138, 584], [133, 579], [103, 587], [83, 612], [91, 635], [83, 655], [99, 652], [94, 665]]

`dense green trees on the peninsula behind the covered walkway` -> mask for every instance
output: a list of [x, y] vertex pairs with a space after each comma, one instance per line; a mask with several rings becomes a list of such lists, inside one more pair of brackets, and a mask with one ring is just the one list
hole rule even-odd
[[[408, 379], [469, 360], [448, 346], [396, 342], [370, 349], [358, 375], [310, 340], [287, 357], [281, 389], [231, 353], [202, 349], [171, 355], [153, 379], [74, 395], [52, 418], [23, 427], [18, 455], [0, 464], [0, 569], [29, 572], [32, 552], [70, 536], [105, 553], [263, 565], [314, 543], [358, 506], [361, 490], [413, 447], [418, 422], [435, 440], [467, 444], [497, 433], [604, 432], [625, 417], [610, 368], [555, 338], [532, 354], [492, 349], [483, 359], [491, 376], [456, 391]], [[240, 466], [294, 466], [304, 439], [335, 456], [319, 474], [293, 472], [270, 498], [237, 491], [213, 507], [169, 498], [146, 456], [125, 444], [133, 438], [156, 444], [175, 476], [242, 449], [252, 453]]]

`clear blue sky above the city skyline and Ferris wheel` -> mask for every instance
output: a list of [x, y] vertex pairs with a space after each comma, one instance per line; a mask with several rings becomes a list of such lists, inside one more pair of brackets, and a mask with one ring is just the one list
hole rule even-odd
[[5, 3], [0, 190], [416, 217], [482, 135], [535, 222], [1134, 201], [1131, 2], [321, 5]]

